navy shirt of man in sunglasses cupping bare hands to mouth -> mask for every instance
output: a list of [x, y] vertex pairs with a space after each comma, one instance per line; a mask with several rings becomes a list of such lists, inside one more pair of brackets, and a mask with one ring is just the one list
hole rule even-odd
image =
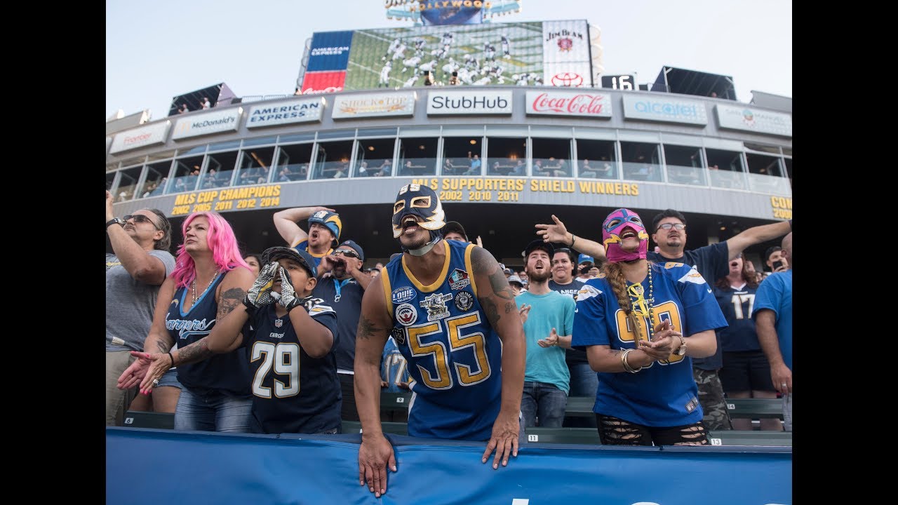
[[337, 331], [340, 334], [337, 347], [337, 369], [352, 371], [356, 361], [356, 331], [358, 316], [362, 313], [362, 295], [365, 289], [356, 279], [321, 279], [312, 291], [313, 297], [337, 311]]

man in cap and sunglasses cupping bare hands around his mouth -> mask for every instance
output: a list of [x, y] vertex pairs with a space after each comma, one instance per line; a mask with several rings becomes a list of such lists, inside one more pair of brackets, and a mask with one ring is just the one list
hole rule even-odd
[[358, 315], [362, 312], [362, 295], [371, 283], [372, 277], [362, 270], [365, 252], [362, 246], [351, 240], [337, 246], [333, 253], [321, 257], [320, 274], [326, 271], [330, 276], [319, 277], [312, 295], [321, 298], [337, 313], [337, 377], [343, 393], [340, 419], [358, 421], [356, 391], [353, 384], [356, 361], [356, 331]]

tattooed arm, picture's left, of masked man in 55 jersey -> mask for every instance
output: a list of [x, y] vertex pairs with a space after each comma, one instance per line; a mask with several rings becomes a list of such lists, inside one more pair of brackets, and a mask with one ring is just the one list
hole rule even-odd
[[[382, 273], [381, 275], [386, 275]], [[381, 429], [381, 357], [392, 330], [381, 279], [365, 288], [362, 314], [356, 333], [356, 409], [362, 421], [362, 444], [358, 447], [358, 483], [380, 497], [387, 491], [386, 467], [396, 471], [396, 457]]]

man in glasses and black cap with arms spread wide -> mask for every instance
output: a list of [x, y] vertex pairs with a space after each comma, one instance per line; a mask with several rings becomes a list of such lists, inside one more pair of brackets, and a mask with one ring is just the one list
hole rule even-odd
[[[596, 260], [605, 259], [604, 245], [597, 244], [583, 237], [568, 233], [568, 229], [558, 217], [552, 216], [554, 225], [537, 225], [537, 235], [543, 240], [561, 242], [577, 247], [577, 250], [593, 256]], [[656, 263], [683, 263], [698, 270], [704, 279], [720, 279], [729, 272], [729, 261], [734, 259], [745, 248], [761, 244], [786, 235], [792, 230], [792, 220], [780, 221], [770, 225], [753, 226], [725, 242], [709, 244], [698, 249], [685, 251], [686, 217], [681, 212], [668, 208], [659, 212], [652, 219], [652, 240], [658, 245], [660, 252], [647, 253], [647, 259]], [[722, 349], [718, 335], [718, 350]], [[692, 373], [699, 385], [699, 402], [704, 412], [702, 421], [710, 431], [733, 430], [729, 412], [726, 412], [723, 385], [720, 384], [718, 368], [723, 366], [720, 352], [692, 360]]]

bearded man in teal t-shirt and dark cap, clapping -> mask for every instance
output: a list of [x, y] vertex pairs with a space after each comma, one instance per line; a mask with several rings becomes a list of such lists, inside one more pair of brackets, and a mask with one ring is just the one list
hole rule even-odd
[[[524, 426], [560, 428], [568, 406], [570, 373], [565, 349], [570, 349], [574, 327], [574, 299], [549, 288], [552, 244], [534, 240], [524, 250], [524, 270], [530, 278], [528, 291], [515, 297], [519, 308], [528, 310], [524, 321], [527, 367], [521, 412]], [[515, 277], [516, 279], [516, 277]]]

